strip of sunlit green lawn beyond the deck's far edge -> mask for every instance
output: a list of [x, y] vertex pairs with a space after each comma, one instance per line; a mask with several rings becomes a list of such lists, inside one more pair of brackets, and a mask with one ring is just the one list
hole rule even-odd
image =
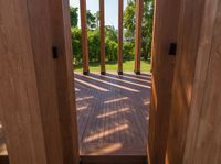
[[[123, 64], [124, 72], [134, 72], [134, 61], [126, 61]], [[82, 72], [82, 65], [74, 66], [75, 72]], [[90, 64], [90, 72], [101, 72], [99, 63], [91, 63]], [[117, 72], [117, 63], [106, 63], [106, 72]], [[141, 72], [150, 72], [150, 64], [149, 62], [141, 61]]]

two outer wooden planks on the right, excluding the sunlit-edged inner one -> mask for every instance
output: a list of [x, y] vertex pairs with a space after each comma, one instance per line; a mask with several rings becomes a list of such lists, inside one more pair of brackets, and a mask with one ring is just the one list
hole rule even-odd
[[185, 0], [180, 8], [167, 161], [221, 163], [221, 1]]

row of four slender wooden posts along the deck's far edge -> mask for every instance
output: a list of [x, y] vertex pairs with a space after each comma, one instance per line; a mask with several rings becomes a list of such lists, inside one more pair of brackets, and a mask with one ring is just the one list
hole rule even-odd
[[[101, 34], [101, 74], [105, 75], [105, 0], [99, 0], [99, 34]], [[140, 74], [140, 54], [141, 54], [141, 20], [143, 20], [144, 0], [136, 1], [136, 30], [135, 30], [135, 73]], [[87, 25], [86, 25], [86, 0], [80, 0], [81, 10], [81, 28], [82, 28], [82, 52], [83, 52], [83, 74], [88, 75], [88, 43], [87, 43]], [[117, 64], [118, 74], [122, 75], [123, 68], [123, 13], [124, 0], [118, 0], [118, 51]]]

